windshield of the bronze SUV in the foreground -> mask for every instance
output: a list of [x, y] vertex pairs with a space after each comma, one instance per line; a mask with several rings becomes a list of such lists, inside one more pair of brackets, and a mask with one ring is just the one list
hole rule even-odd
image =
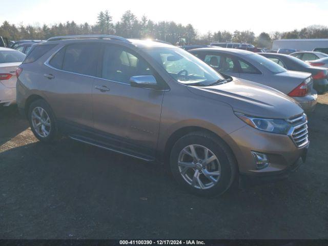
[[209, 86], [224, 77], [209, 65], [179, 48], [149, 48], [146, 52], [153, 57], [179, 83]]

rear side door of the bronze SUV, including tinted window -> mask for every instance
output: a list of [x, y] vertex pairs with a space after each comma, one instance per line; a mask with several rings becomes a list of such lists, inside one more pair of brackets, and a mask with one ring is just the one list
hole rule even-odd
[[69, 44], [46, 63], [43, 71], [48, 102], [70, 132], [76, 127], [93, 127], [92, 85], [98, 55], [99, 45], [95, 43]]

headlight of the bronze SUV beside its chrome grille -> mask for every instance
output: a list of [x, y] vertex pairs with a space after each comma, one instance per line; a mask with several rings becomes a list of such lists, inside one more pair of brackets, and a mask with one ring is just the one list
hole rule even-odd
[[256, 129], [265, 131], [265, 132], [273, 132], [279, 134], [288, 134], [291, 125], [285, 121], [284, 119], [265, 119], [265, 118], [257, 118], [253, 116], [248, 116], [242, 113], [235, 112], [235, 115], [244, 121], [246, 124], [254, 127]]

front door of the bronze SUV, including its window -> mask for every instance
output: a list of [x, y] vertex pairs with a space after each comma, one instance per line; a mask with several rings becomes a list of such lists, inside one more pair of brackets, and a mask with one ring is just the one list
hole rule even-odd
[[[115, 149], [154, 156], [163, 91], [130, 86], [130, 77], [155, 75], [147, 62], [123, 46], [106, 44], [93, 85], [94, 128]], [[102, 134], [104, 133], [104, 134]]]

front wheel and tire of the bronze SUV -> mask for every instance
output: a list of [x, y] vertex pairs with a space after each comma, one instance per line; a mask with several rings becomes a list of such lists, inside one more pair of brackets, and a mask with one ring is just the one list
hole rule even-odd
[[226, 192], [237, 173], [236, 160], [227, 144], [206, 132], [189, 133], [177, 140], [170, 167], [183, 188], [208, 197]]

